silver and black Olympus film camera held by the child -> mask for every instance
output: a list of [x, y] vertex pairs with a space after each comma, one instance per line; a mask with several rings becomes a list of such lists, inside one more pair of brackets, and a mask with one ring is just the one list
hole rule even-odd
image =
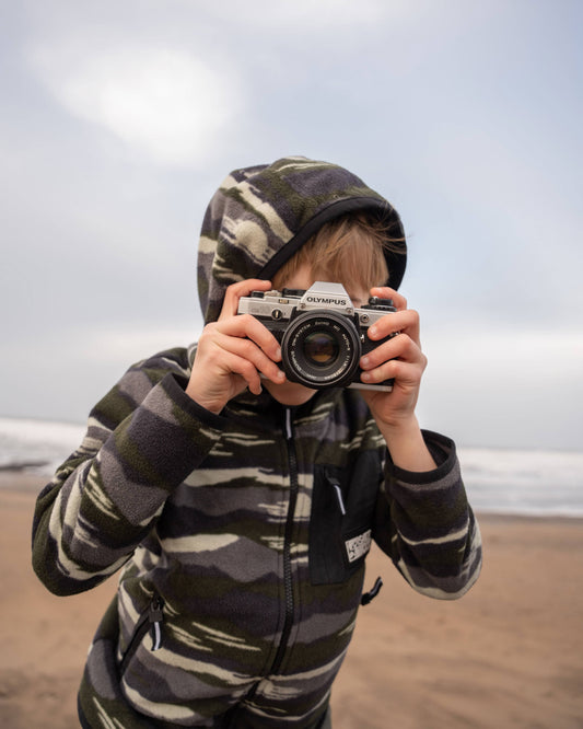
[[366, 331], [388, 312], [392, 299], [372, 297], [355, 309], [341, 284], [316, 281], [307, 291], [252, 291], [238, 302], [238, 314], [258, 319], [281, 345], [288, 380], [306, 387], [393, 390], [393, 380], [360, 381], [360, 358], [396, 335], [371, 342]]

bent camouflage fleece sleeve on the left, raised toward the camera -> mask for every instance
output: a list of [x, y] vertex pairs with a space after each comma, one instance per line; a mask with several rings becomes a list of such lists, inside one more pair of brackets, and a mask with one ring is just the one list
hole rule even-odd
[[55, 594], [88, 590], [115, 572], [219, 439], [223, 419], [190, 400], [172, 369], [156, 362], [128, 370], [39, 495], [33, 567]]

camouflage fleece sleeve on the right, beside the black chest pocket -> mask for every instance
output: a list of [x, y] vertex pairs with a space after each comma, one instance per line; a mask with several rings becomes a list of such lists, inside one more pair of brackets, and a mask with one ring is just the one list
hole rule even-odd
[[465, 594], [481, 568], [481, 539], [453, 441], [423, 431], [438, 467], [412, 473], [385, 465], [375, 541], [418, 592], [441, 600]]

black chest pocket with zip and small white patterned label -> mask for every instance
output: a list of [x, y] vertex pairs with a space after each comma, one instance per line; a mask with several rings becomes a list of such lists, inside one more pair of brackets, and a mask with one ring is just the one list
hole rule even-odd
[[371, 548], [381, 477], [376, 451], [364, 451], [348, 470], [315, 466], [308, 553], [312, 585], [343, 582], [362, 566]]

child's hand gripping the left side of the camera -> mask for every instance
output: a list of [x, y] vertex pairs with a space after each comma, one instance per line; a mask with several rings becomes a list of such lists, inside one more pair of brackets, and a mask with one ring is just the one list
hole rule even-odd
[[186, 393], [212, 413], [220, 413], [246, 387], [258, 395], [260, 374], [272, 382], [285, 380], [276, 364], [281, 359], [276, 337], [255, 316], [237, 314], [241, 297], [270, 288], [270, 281], [259, 279], [232, 284], [219, 321], [202, 329]]

